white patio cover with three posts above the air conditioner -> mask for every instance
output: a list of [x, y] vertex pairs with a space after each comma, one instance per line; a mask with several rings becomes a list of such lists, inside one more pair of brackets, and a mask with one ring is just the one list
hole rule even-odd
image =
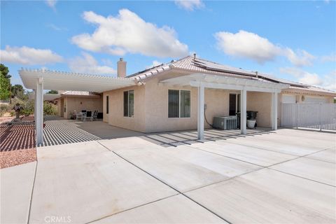
[[289, 87], [288, 84], [274, 83], [261, 78], [234, 78], [207, 73], [193, 73], [160, 80], [162, 85], [192, 86], [198, 88], [197, 133], [204, 138], [204, 88], [240, 90], [241, 92], [241, 134], [246, 134], [246, 92], [269, 92], [272, 94], [272, 130], [277, 129], [278, 93]]

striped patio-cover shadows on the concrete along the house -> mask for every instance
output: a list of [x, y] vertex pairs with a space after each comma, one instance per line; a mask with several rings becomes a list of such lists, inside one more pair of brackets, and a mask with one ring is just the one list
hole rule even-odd
[[[267, 128], [247, 130], [248, 136], [269, 134]], [[217, 141], [221, 139], [237, 139], [246, 137], [240, 134], [240, 130], [214, 130], [204, 131], [204, 139], [197, 139], [197, 130], [179, 132], [142, 133], [114, 127], [102, 122], [65, 120], [57, 116], [45, 116], [44, 144], [43, 146], [55, 146], [62, 144], [78, 143], [83, 141], [97, 141], [101, 139], [119, 139], [127, 137], [140, 137], [146, 141], [160, 146], [190, 145], [197, 142]]]

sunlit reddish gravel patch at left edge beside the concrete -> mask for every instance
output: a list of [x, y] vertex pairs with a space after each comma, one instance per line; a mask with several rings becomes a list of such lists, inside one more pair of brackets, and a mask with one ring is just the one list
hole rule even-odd
[[0, 152], [0, 168], [22, 165], [36, 161], [36, 148]]

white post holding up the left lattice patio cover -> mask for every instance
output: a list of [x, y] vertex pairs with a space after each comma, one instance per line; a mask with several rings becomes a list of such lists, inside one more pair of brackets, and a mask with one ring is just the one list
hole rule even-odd
[[35, 125], [36, 125], [36, 144], [39, 146], [43, 144], [43, 78], [38, 78], [36, 83], [36, 111], [35, 111]]

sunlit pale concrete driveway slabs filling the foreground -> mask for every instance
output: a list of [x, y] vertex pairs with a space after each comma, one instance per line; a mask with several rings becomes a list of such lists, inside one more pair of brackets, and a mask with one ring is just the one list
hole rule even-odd
[[1, 223], [335, 223], [335, 134], [38, 148], [1, 169]]

